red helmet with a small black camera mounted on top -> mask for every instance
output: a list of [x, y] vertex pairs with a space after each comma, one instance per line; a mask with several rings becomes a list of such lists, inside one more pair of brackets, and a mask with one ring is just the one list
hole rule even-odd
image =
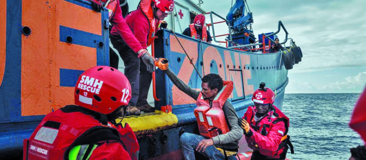
[[275, 93], [265, 86], [266, 84], [263, 82], [259, 85], [259, 89], [253, 93], [253, 102], [260, 104], [273, 104], [275, 102]]

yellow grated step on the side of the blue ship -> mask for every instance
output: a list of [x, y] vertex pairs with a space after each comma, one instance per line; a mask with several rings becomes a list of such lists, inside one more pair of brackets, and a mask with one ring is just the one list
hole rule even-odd
[[[118, 123], [120, 118], [116, 119]], [[123, 118], [122, 124], [128, 123], [136, 136], [152, 134], [161, 130], [173, 128], [178, 123], [175, 114], [155, 111], [155, 113], [142, 113], [141, 115], [128, 115]]]

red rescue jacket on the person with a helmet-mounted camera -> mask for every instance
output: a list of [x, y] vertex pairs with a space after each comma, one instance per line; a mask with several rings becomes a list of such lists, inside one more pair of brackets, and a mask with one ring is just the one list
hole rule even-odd
[[249, 106], [243, 119], [250, 123], [250, 131], [245, 139], [248, 146], [264, 155], [266, 159], [285, 159], [288, 145], [293, 148], [287, 135], [290, 119], [276, 106], [257, 122], [254, 119], [257, 109]]

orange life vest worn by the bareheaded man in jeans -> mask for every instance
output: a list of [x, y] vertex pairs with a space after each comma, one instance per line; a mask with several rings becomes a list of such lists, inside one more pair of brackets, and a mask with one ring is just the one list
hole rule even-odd
[[[212, 106], [209, 100], [203, 99], [202, 93], [199, 94], [196, 103], [197, 108], [194, 109], [194, 116], [197, 119], [199, 133], [202, 136], [212, 138], [230, 131], [225, 119], [223, 106], [231, 95], [233, 88], [232, 81], [224, 81], [224, 87], [212, 101]], [[211, 129], [213, 130], [209, 131]]]

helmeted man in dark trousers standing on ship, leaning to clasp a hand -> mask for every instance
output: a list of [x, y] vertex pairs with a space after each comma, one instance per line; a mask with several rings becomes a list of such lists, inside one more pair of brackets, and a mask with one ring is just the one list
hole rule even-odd
[[[138, 9], [127, 15], [127, 26], [131, 29], [143, 49], [146, 49], [153, 43], [160, 23], [173, 12], [173, 8], [173, 0], [141, 0]], [[125, 41], [118, 34], [116, 27], [112, 28], [111, 42], [124, 62], [126, 67], [124, 74], [132, 87], [132, 98], [130, 107], [127, 108], [127, 113], [139, 115], [141, 111], [154, 112], [154, 107], [147, 103], [147, 94], [152, 81], [151, 73], [155, 70], [153, 57], [147, 52], [142, 52], [139, 55], [134, 54], [133, 49], [126, 45], [128, 41]], [[148, 63], [142, 58], [144, 56], [151, 57]]]

